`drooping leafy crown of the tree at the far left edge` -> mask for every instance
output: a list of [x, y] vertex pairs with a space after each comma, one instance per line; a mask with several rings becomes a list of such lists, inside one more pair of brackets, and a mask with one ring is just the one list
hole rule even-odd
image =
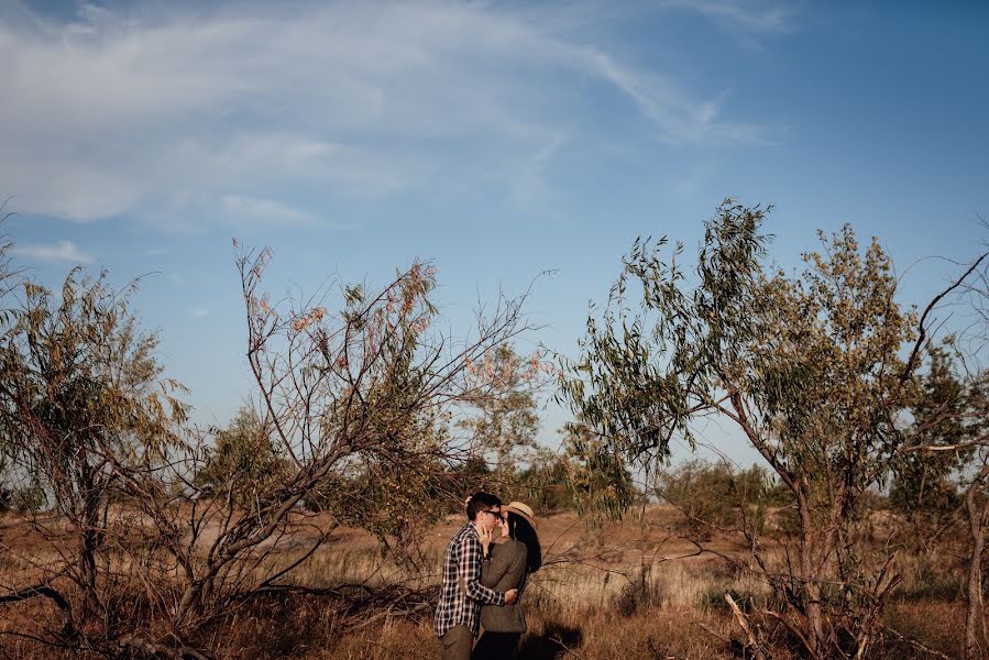
[[162, 378], [157, 338], [141, 333], [128, 289], [73, 271], [55, 296], [23, 284], [0, 342], [0, 448], [74, 510], [111, 482], [113, 463], [150, 465], [178, 442], [182, 386]]

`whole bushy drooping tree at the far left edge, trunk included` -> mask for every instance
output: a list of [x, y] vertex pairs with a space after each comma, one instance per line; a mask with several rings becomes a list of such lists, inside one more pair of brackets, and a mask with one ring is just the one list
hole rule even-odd
[[0, 451], [61, 516], [32, 520], [59, 559], [0, 602], [52, 600], [63, 615], [59, 644], [107, 649], [127, 626], [108, 602], [106, 566], [118, 565], [110, 540], [121, 522], [113, 494], [123, 470], [146, 475], [180, 444], [186, 406], [175, 394], [183, 388], [162, 377], [157, 338], [140, 332], [130, 311], [133, 290], [117, 293], [106, 273], [79, 270], [58, 297], [24, 282], [0, 333]]

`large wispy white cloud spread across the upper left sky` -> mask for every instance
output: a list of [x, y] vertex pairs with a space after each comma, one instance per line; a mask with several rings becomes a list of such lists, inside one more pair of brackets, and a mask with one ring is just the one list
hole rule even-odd
[[716, 100], [568, 40], [549, 14], [428, 1], [156, 11], [0, 18], [0, 184], [21, 212], [310, 222], [341, 197], [477, 179], [510, 194], [520, 168], [546, 169], [561, 122], [580, 133], [569, 114], [587, 80], [668, 143], [763, 139]]

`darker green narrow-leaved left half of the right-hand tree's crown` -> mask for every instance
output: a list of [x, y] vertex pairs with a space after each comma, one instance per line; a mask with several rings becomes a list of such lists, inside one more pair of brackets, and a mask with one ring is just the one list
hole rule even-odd
[[[674, 435], [693, 443], [692, 416], [721, 398], [725, 372], [736, 371], [744, 344], [758, 334], [763, 216], [758, 207], [718, 208], [705, 226], [693, 290], [679, 263], [682, 244], [663, 261], [666, 238], [636, 239], [602, 319], [592, 307], [580, 360], [564, 364], [561, 381], [560, 399], [602, 452], [649, 466], [669, 459]], [[640, 294], [638, 310], [630, 287]]]

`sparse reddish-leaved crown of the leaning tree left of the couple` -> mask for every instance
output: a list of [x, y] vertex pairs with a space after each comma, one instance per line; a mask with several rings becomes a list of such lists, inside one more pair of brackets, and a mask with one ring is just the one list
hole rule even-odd
[[411, 540], [463, 499], [441, 494], [458, 453], [449, 436], [453, 407], [497, 389], [469, 367], [517, 333], [520, 301], [499, 301], [493, 318], [479, 318], [476, 336], [451, 351], [448, 338], [430, 331], [433, 267], [414, 263], [377, 290], [341, 286], [343, 308], [331, 311], [314, 306], [323, 293], [273, 306], [261, 287], [270, 258], [261, 250], [237, 260], [248, 360], [294, 465], [260, 503], [274, 520], [264, 532], [305, 503], [371, 530], [399, 560], [415, 562]]

